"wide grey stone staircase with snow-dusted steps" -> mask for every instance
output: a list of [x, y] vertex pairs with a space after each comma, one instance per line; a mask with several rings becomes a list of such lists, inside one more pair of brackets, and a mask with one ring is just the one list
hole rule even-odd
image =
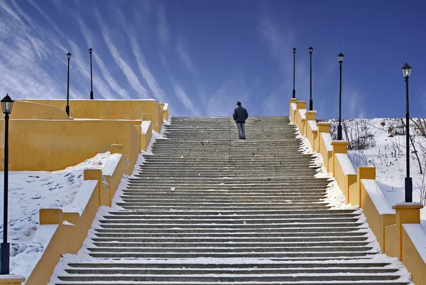
[[[324, 203], [327, 178], [288, 117], [173, 117], [99, 219], [88, 256], [50, 284], [409, 284], [360, 210]], [[83, 254], [84, 255], [84, 254]], [[403, 269], [405, 270], [405, 269]]]

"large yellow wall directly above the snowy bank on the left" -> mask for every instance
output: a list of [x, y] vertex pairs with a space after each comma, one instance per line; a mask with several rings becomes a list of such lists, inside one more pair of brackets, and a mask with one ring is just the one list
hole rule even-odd
[[[0, 125], [4, 137], [4, 124]], [[60, 170], [109, 151], [111, 144], [123, 144], [133, 166], [140, 153], [139, 139], [127, 120], [15, 119], [9, 122], [9, 170]], [[4, 159], [4, 145], [0, 145], [0, 159]], [[3, 167], [0, 163], [1, 171]]]

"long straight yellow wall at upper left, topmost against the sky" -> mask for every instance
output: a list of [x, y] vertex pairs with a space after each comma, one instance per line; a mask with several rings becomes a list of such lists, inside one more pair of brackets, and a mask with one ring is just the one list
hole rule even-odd
[[[28, 99], [65, 110], [67, 100]], [[143, 119], [151, 114], [153, 130], [160, 132], [163, 106], [155, 100], [70, 100], [70, 117], [79, 119]]]

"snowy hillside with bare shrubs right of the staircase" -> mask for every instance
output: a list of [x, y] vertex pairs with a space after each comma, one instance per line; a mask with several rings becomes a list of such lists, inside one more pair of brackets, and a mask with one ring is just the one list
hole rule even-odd
[[[425, 119], [410, 122], [410, 177], [413, 178], [413, 202], [426, 204]], [[331, 133], [337, 136], [338, 122], [332, 121]], [[406, 149], [405, 119], [352, 119], [342, 121], [343, 139], [350, 142], [349, 158], [358, 166], [376, 166], [376, 181], [390, 205], [405, 199]], [[411, 145], [411, 144], [410, 144]], [[426, 209], [421, 210], [426, 230]]]

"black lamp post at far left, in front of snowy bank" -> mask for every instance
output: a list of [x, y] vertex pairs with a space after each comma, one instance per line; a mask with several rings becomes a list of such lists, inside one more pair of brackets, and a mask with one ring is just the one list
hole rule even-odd
[[8, 227], [8, 186], [9, 186], [9, 114], [12, 112], [13, 100], [6, 95], [1, 100], [1, 109], [4, 113], [4, 200], [3, 200], [3, 242], [0, 248], [0, 274], [9, 274], [10, 251], [11, 247], [7, 242]]

